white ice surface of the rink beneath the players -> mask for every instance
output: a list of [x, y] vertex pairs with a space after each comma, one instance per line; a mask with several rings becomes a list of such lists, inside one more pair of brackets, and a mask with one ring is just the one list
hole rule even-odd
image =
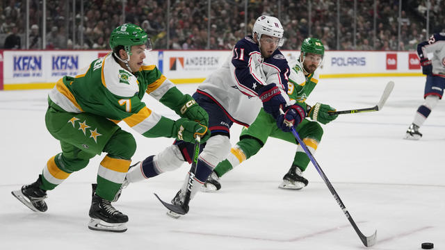
[[[445, 249], [445, 102], [439, 101], [421, 127], [421, 140], [402, 139], [423, 102], [425, 78], [322, 78], [308, 103], [319, 101], [337, 110], [368, 108], [390, 80], [396, 86], [383, 110], [340, 115], [323, 126], [315, 158], [362, 232], [377, 230], [378, 242], [371, 249], [421, 249], [422, 242]], [[196, 86], [179, 89], [191, 94]], [[305, 172], [307, 188], [277, 188], [296, 146], [273, 138], [223, 177], [220, 192], [197, 194], [180, 219], [166, 216], [153, 192], [172, 199], [188, 165], [124, 190], [115, 207], [129, 216], [127, 232], [90, 231], [90, 183], [104, 155], [48, 192], [46, 213], [33, 213], [10, 192], [35, 181], [60, 151], [44, 126], [48, 91], [0, 92], [0, 249], [365, 248], [312, 163]], [[145, 101], [156, 112], [175, 117], [154, 99]], [[232, 144], [240, 131], [241, 126], [232, 127]], [[172, 143], [133, 135], [135, 161]]]

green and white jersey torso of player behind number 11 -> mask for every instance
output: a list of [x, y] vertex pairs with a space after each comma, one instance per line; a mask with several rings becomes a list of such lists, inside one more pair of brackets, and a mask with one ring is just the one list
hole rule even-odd
[[291, 100], [295, 100], [300, 106], [306, 108], [306, 99], [318, 83], [318, 69], [305, 76], [300, 59], [289, 63], [289, 67], [291, 68], [291, 74], [289, 75], [287, 94]]

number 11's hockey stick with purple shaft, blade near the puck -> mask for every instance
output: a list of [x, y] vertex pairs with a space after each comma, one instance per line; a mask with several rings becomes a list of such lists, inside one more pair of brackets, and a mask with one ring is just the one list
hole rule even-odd
[[[283, 111], [280, 109], [280, 113], [284, 114]], [[375, 244], [376, 242], [376, 237], [377, 237], [377, 231], [374, 232], [373, 235], [371, 236], [365, 236], [358, 228], [357, 224], [355, 224], [353, 217], [350, 215], [350, 213], [348, 212], [348, 210], [346, 209], [345, 204], [343, 203], [343, 201], [341, 201], [339, 194], [337, 194], [337, 192], [334, 190], [334, 187], [332, 187], [332, 184], [330, 183], [330, 181], [327, 179], [327, 176], [325, 175], [325, 173], [323, 172], [323, 169], [321, 169], [320, 165], [318, 165], [317, 161], [315, 160], [314, 156], [312, 156], [312, 153], [309, 151], [309, 149], [307, 149], [307, 146], [305, 144], [305, 142], [303, 142], [300, 138], [300, 135], [298, 135], [297, 131], [295, 130], [295, 128], [293, 127], [292, 124], [288, 124], [288, 126], [291, 127], [291, 132], [293, 133], [293, 136], [295, 136], [296, 140], [298, 141], [298, 143], [301, 145], [301, 147], [305, 150], [305, 153], [307, 154], [307, 156], [309, 157], [309, 159], [311, 160], [312, 164], [314, 164], [314, 167], [317, 169], [318, 174], [320, 174], [321, 178], [323, 178], [323, 181], [325, 181], [327, 188], [329, 188], [332, 196], [334, 197], [335, 201], [337, 201], [337, 203], [339, 204], [341, 210], [343, 210], [343, 213], [346, 215], [346, 218], [348, 218], [350, 224], [353, 226], [355, 232], [357, 233], [357, 235], [359, 235], [360, 240], [362, 240], [363, 244], [365, 247], [371, 247], [373, 246], [373, 244]]]

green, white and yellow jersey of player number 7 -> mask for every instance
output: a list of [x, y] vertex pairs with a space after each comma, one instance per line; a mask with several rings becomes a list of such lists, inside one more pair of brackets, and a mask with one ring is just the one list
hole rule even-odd
[[108, 53], [81, 74], [61, 78], [49, 99], [69, 113], [91, 113], [116, 123], [123, 120], [147, 137], [172, 137], [174, 122], [149, 110], [142, 101], [145, 93], [170, 108], [184, 97], [155, 65], [143, 65], [132, 74]]

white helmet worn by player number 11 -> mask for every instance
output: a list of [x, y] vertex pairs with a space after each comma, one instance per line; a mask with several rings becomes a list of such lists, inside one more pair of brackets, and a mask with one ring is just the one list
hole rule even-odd
[[270, 17], [266, 15], [258, 17], [257, 21], [253, 25], [253, 33], [257, 33], [258, 40], [261, 38], [261, 35], [270, 35], [275, 38], [280, 38], [278, 46], [283, 46], [284, 29], [277, 17]]

